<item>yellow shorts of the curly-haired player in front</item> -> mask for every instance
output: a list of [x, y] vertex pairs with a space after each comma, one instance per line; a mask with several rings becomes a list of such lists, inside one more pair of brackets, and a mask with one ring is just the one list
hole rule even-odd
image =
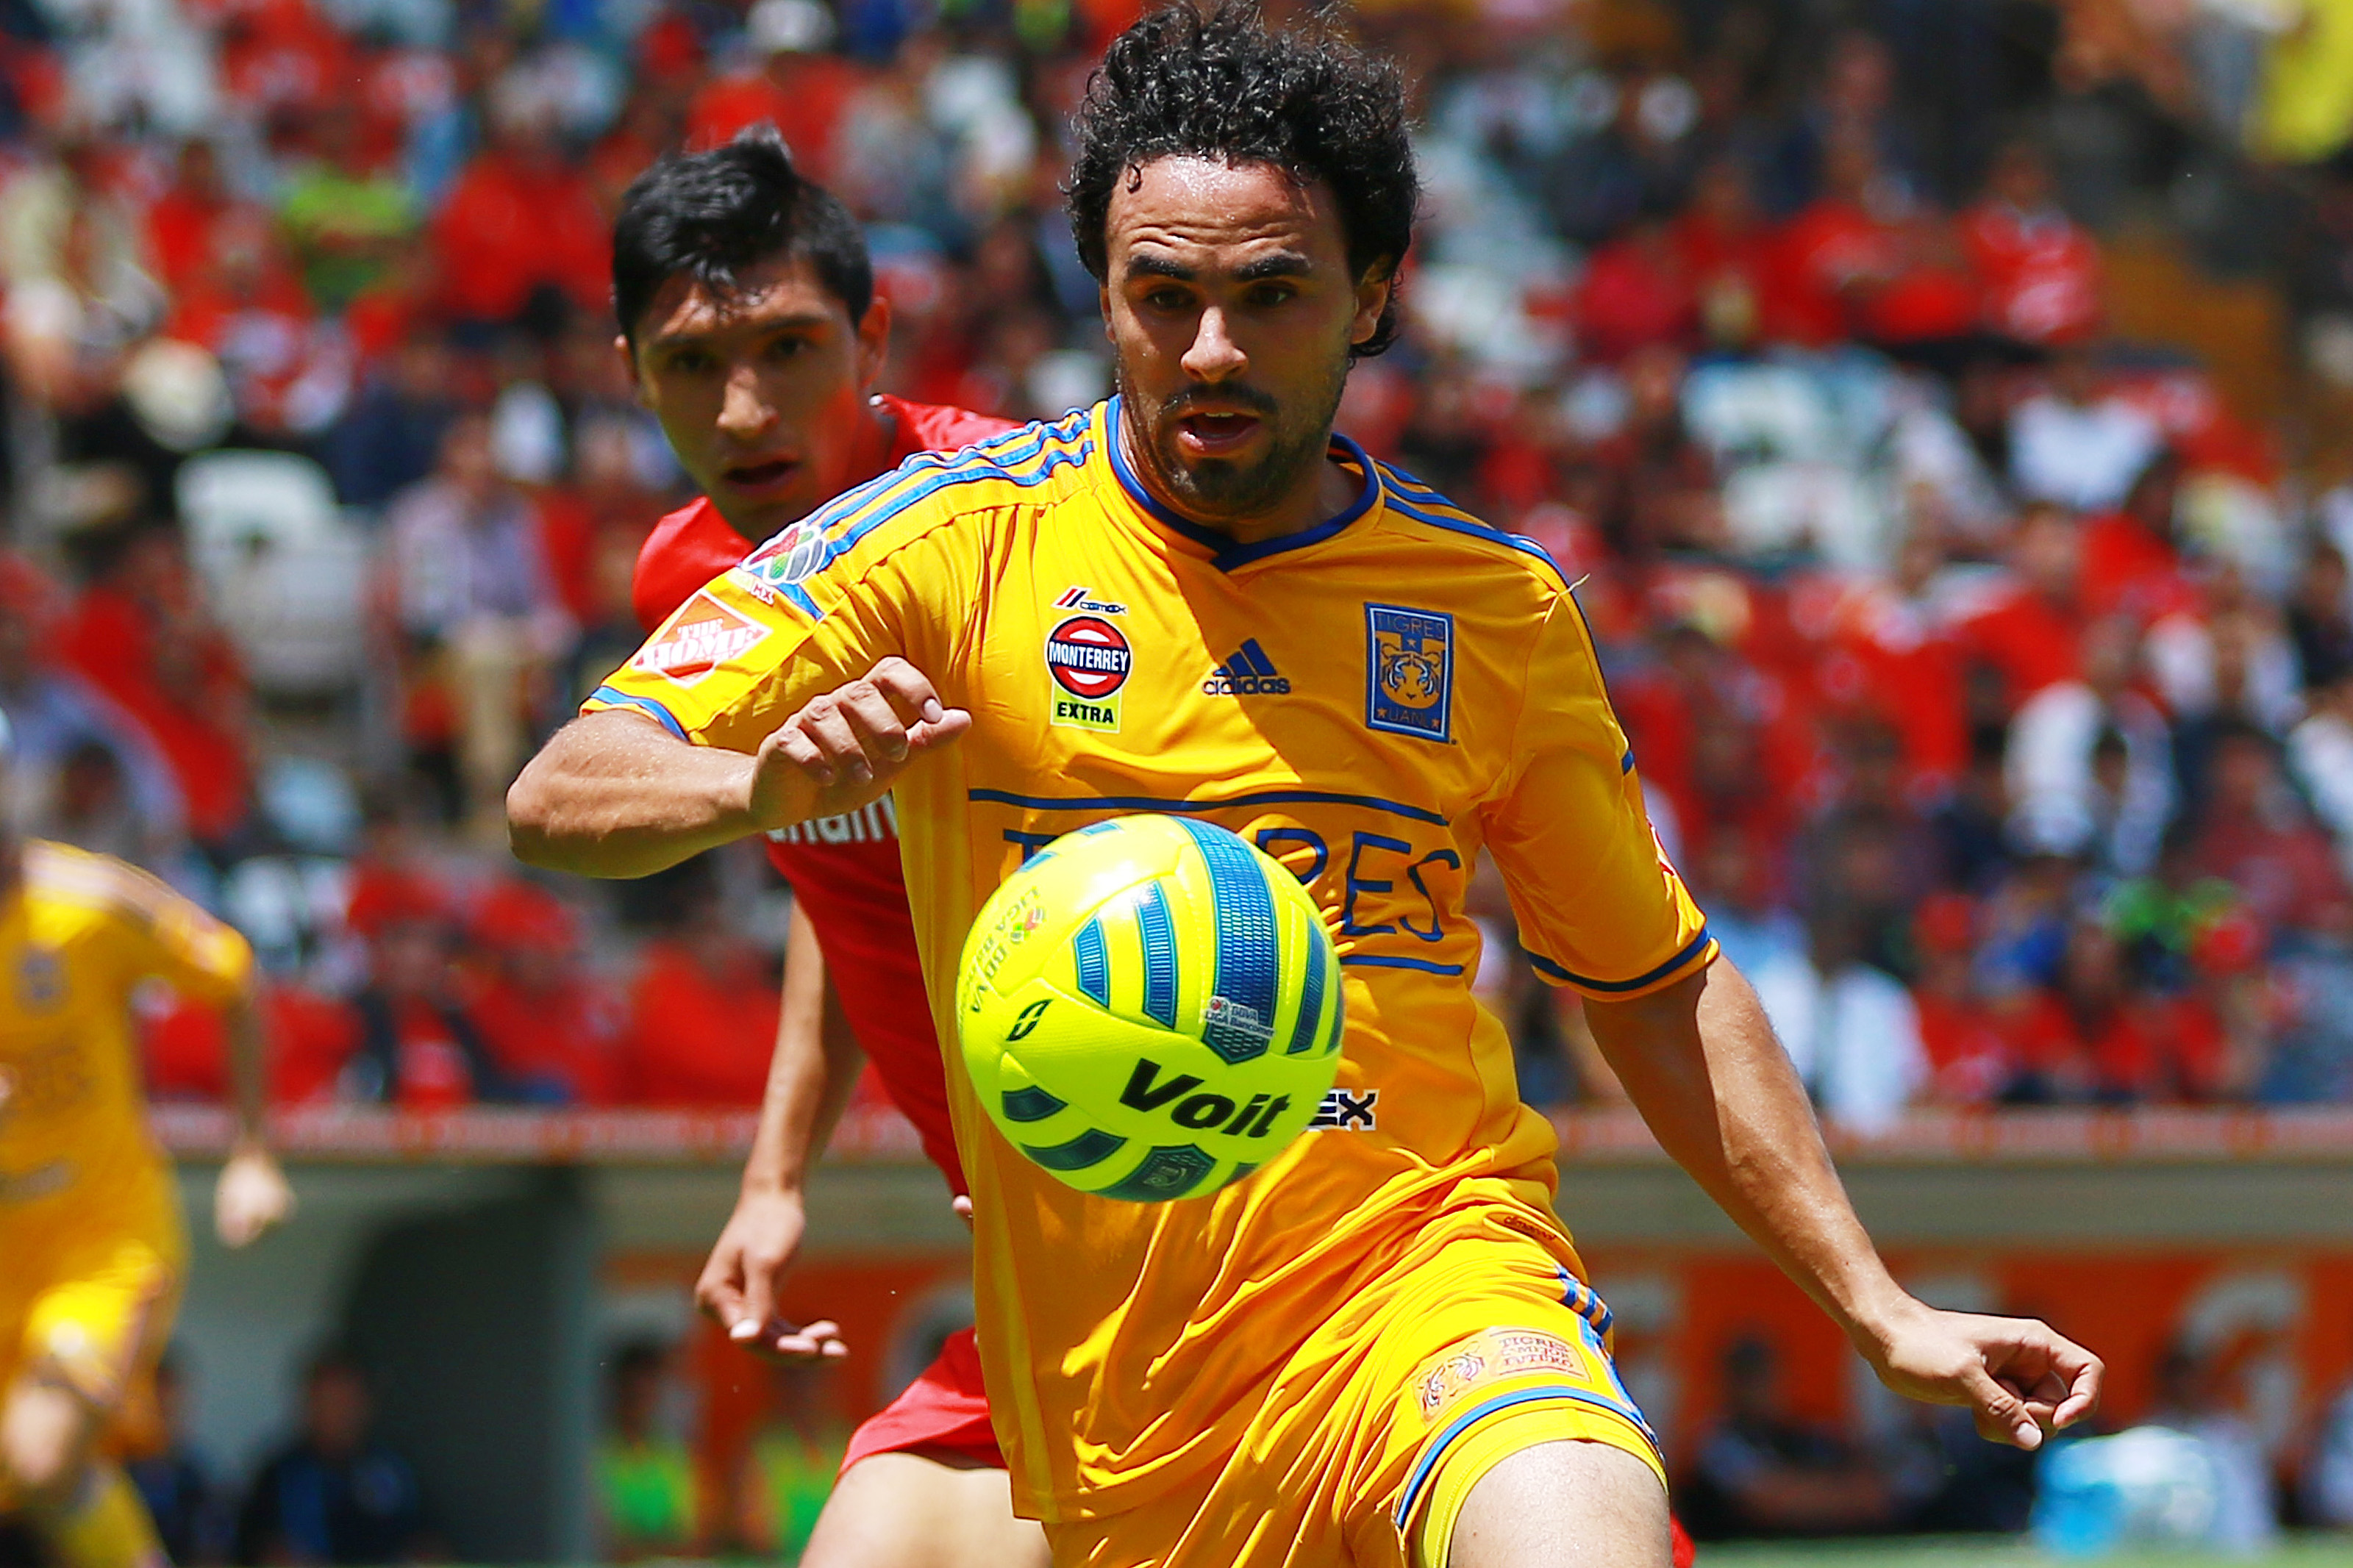
[[1501, 1460], [1591, 1441], [1666, 1486], [1609, 1361], [1609, 1309], [1501, 1204], [1454, 1208], [1320, 1326], [1240, 1446], [1195, 1486], [1049, 1523], [1056, 1568], [1447, 1568]]

